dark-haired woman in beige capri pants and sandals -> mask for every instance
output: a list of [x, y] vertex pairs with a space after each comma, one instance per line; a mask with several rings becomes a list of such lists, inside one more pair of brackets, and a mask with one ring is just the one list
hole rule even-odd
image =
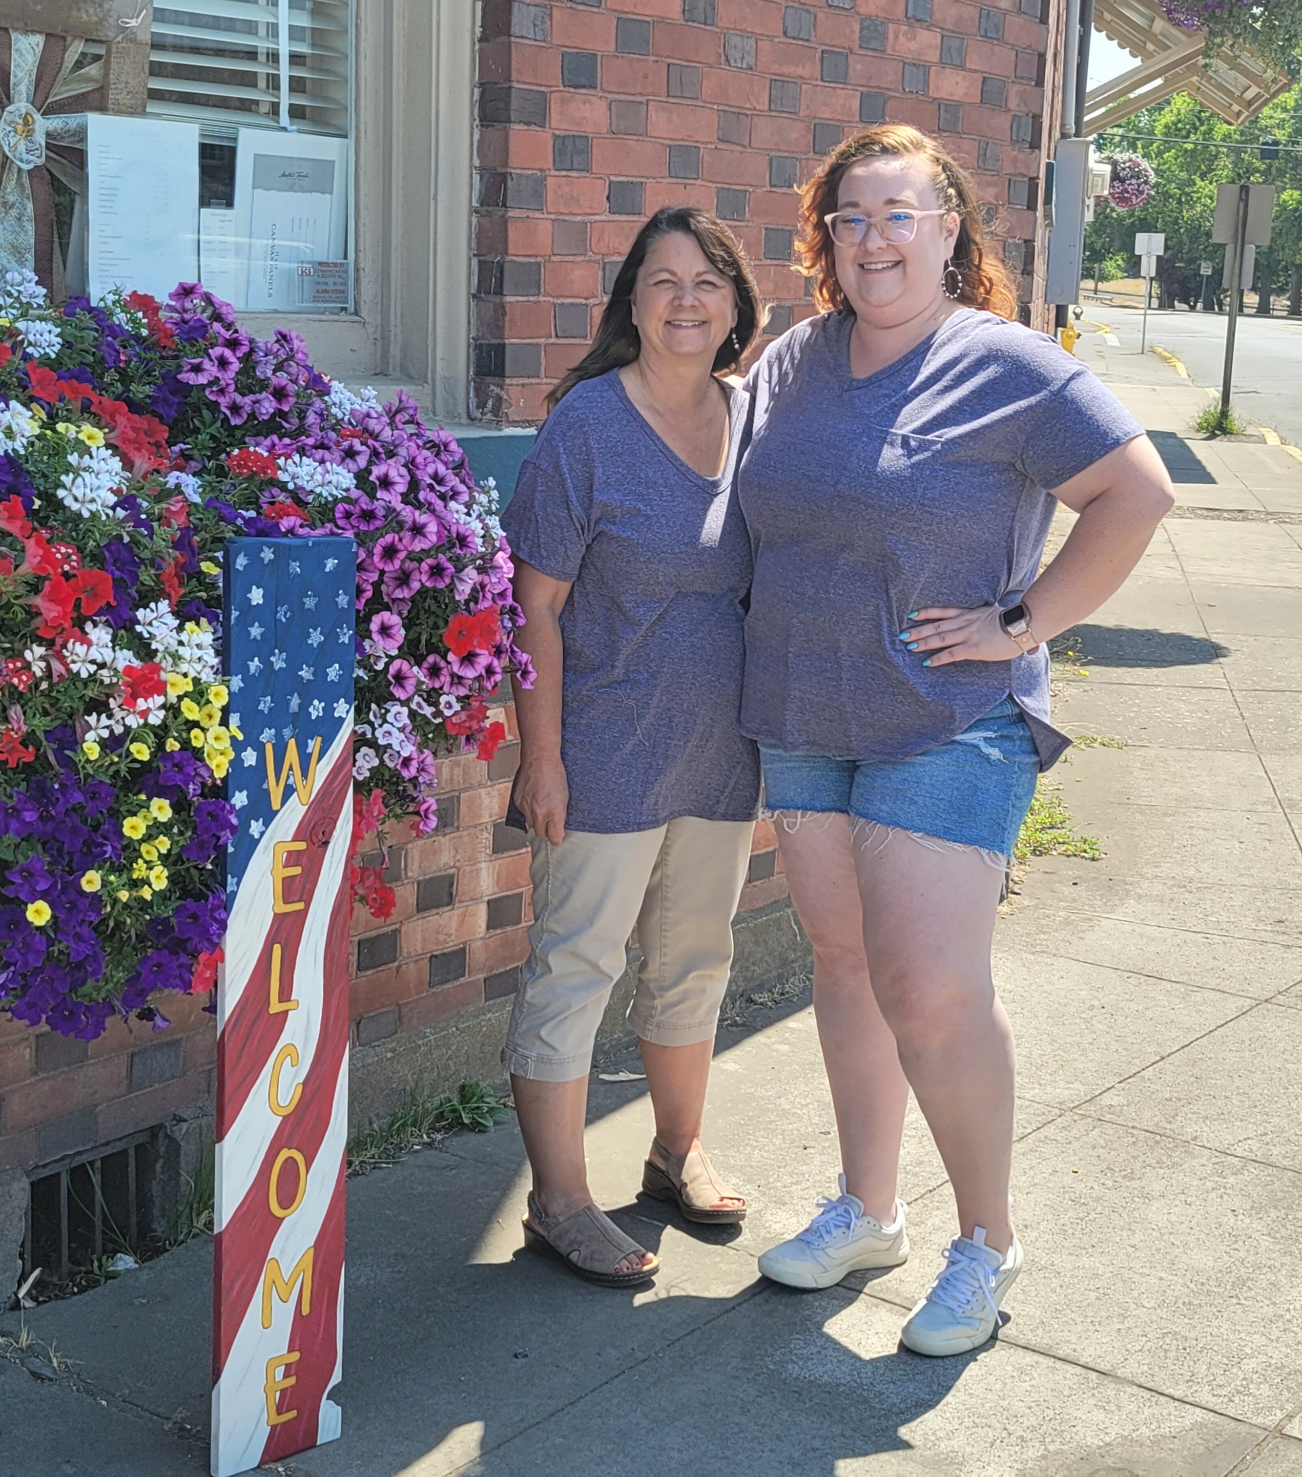
[[727, 227], [658, 211], [591, 352], [553, 391], [502, 520], [538, 671], [516, 690], [534, 926], [502, 1058], [534, 1171], [525, 1233], [606, 1286], [659, 1266], [593, 1204], [584, 1162], [593, 1041], [634, 925], [630, 1021], [656, 1123], [643, 1189], [695, 1221], [746, 1214], [701, 1123], [760, 793], [737, 725], [745, 396], [720, 378], [757, 316]]

